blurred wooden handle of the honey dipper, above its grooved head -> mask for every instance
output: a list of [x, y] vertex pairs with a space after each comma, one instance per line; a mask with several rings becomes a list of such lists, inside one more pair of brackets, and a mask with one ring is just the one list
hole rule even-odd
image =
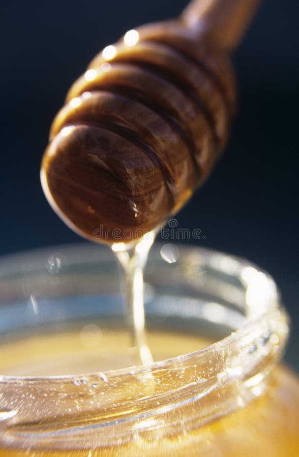
[[219, 47], [233, 50], [261, 0], [193, 0], [181, 19], [198, 34], [210, 34]]

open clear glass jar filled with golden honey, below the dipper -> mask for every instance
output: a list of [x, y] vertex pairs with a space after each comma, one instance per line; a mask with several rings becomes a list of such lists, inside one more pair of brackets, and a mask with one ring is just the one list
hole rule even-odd
[[299, 382], [279, 364], [288, 317], [246, 260], [153, 248], [146, 367], [109, 249], [3, 258], [0, 290], [0, 456], [299, 455]]

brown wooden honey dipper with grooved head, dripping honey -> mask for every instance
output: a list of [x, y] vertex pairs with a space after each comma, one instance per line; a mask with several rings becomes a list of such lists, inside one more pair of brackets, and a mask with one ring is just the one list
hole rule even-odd
[[93, 59], [54, 119], [41, 168], [50, 205], [74, 231], [139, 239], [204, 182], [235, 110], [228, 55], [258, 3], [194, 0]]

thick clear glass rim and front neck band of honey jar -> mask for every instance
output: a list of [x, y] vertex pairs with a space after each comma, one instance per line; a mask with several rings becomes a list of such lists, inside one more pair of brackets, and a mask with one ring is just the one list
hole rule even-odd
[[[57, 403], [57, 398], [53, 397], [51, 405], [53, 417], [72, 416], [76, 411], [76, 409], [73, 410], [76, 399], [84, 399], [85, 409], [83, 409], [86, 413], [94, 409], [94, 406], [88, 406], [88, 402], [92, 401], [94, 405], [98, 401], [99, 408], [102, 408], [101, 420], [99, 421], [99, 413], [97, 413], [98, 422], [95, 422], [98, 426], [96, 437], [99, 443], [107, 441], [108, 429], [114, 437], [136, 433], [136, 427], [134, 426], [133, 430], [132, 425], [137, 422], [139, 423], [138, 433], [145, 431], [149, 433], [149, 430], [156, 433], [159, 428], [161, 434], [162, 417], [163, 433], [171, 433], [174, 425], [177, 430], [177, 421], [174, 420], [174, 414], [177, 411], [180, 411], [178, 416], [184, 429], [187, 428], [187, 423], [188, 427], [197, 427], [213, 417], [219, 417], [224, 412], [227, 413], [246, 404], [263, 393], [266, 378], [280, 361], [288, 337], [288, 316], [281, 305], [274, 280], [247, 260], [206, 248], [180, 245], [175, 247], [180, 251], [180, 262], [185, 262], [187, 265], [200, 262], [207, 269], [221, 272], [225, 278], [238, 278], [245, 291], [244, 303], [242, 305], [238, 303], [246, 317], [244, 325], [205, 348], [154, 362], [148, 366], [88, 373], [79, 377], [77, 375], [0, 376], [1, 407], [7, 411], [7, 420], [14, 421], [13, 427], [17, 434], [15, 440], [18, 445], [23, 445], [26, 439], [41, 445], [42, 440], [48, 437], [52, 439], [53, 446], [56, 446], [54, 441], [57, 434], [53, 434], [53, 430], [47, 430], [47, 412], [45, 408], [43, 409], [42, 402], [40, 408], [36, 408], [35, 411], [34, 420], [39, 421], [41, 427], [36, 435], [33, 433], [30, 412], [22, 415], [17, 411], [14, 417], [10, 416], [13, 411], [12, 398], [14, 404], [19, 402], [24, 405], [22, 396], [28, 395], [28, 392], [31, 392], [30, 395], [35, 399], [46, 394], [47, 401], [49, 401], [49, 393], [72, 392], [72, 404], [68, 401]], [[162, 245], [157, 243], [150, 257], [156, 261], [159, 258], [159, 262], [162, 262], [161, 249]], [[9, 271], [15, 271], [24, 258], [31, 256], [38, 268], [40, 259], [47, 258], [48, 253], [54, 250], [54, 248], [42, 249], [1, 259], [0, 283], [2, 277], [5, 277]], [[82, 256], [85, 256], [89, 262], [92, 259], [97, 260], [99, 252], [101, 262], [104, 258], [109, 258], [109, 251], [106, 248], [95, 249], [94, 246], [86, 244], [76, 247], [59, 246], [58, 250], [68, 256], [69, 265], [77, 262], [78, 258], [82, 262]], [[225, 280], [228, 281], [228, 279], [223, 281]], [[229, 303], [227, 306], [229, 307]], [[213, 303], [211, 309], [213, 311]], [[76, 383], [75, 394], [73, 393], [74, 383]], [[93, 385], [97, 385], [97, 389], [101, 390], [102, 399], [107, 399], [104, 409], [101, 398], [97, 398], [97, 395], [95, 397], [95, 392], [92, 391]], [[123, 389], [122, 393], [119, 390], [120, 387]], [[27, 406], [32, 403], [30, 398], [26, 400]], [[190, 403], [200, 405], [200, 408], [197, 408], [196, 417], [194, 415], [190, 417]], [[132, 405], [135, 405], [134, 408]], [[127, 411], [132, 408], [134, 412], [128, 415]], [[108, 422], [107, 411], [113, 411], [113, 417], [111, 416]], [[18, 429], [18, 421], [27, 425]], [[140, 423], [143, 425], [140, 426]], [[59, 423], [57, 427], [59, 429]], [[70, 445], [69, 440], [73, 439], [74, 433], [82, 433], [82, 430], [80, 421], [75, 422], [71, 430], [60, 430], [59, 433], [63, 436], [65, 444], [58, 440], [57, 446], [68, 446], [68, 442]], [[84, 433], [86, 443], [95, 439], [92, 426], [88, 426]]]

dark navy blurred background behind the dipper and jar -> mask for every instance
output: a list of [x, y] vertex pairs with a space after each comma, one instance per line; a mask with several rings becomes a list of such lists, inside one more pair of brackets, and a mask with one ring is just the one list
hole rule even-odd
[[[242, 0], [240, 0], [242, 1]], [[50, 209], [39, 167], [49, 126], [74, 79], [107, 44], [184, 0], [5, 2], [1, 51], [0, 254], [80, 241]], [[198, 244], [245, 256], [277, 280], [299, 370], [299, 4], [266, 0], [234, 55], [240, 108], [214, 174], [177, 216]], [[194, 243], [194, 241], [193, 241]]]

